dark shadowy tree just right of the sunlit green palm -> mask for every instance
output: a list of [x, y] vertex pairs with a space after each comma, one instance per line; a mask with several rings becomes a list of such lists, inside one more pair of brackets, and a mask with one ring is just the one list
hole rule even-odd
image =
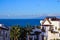
[[26, 40], [27, 33], [30, 33], [30, 31], [32, 30], [31, 28], [32, 27], [29, 24], [27, 24], [26, 27], [21, 28], [21, 40]]

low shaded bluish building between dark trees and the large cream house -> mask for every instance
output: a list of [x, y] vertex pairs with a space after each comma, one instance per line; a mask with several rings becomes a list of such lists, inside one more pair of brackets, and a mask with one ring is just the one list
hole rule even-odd
[[30, 34], [27, 34], [27, 40], [41, 40], [41, 30], [40, 29], [33, 29]]

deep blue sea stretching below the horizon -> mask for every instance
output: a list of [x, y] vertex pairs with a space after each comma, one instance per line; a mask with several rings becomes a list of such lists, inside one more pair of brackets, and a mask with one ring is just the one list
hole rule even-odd
[[41, 19], [0, 19], [0, 24], [5, 24], [7, 26], [12, 26], [19, 24], [21, 26], [30, 25], [40, 25]]

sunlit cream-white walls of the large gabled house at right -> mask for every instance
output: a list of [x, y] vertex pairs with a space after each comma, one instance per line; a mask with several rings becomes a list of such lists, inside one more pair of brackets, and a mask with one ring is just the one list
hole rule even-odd
[[[57, 32], [60, 33], [60, 31], [58, 31], [58, 28], [60, 28], [60, 21], [51, 21], [51, 20], [50, 20], [50, 22], [52, 23], [51, 25], [53, 25], [54, 31], [57, 31]], [[42, 21], [41, 21], [40, 23], [42, 24]], [[47, 20], [45, 21], [44, 25], [46, 25], [46, 24], [50, 25]], [[42, 26], [41, 26], [41, 27], [42, 27]], [[55, 29], [55, 27], [57, 27], [57, 29]], [[48, 31], [48, 29], [49, 29], [49, 28], [46, 27], [46, 34], [48, 35], [48, 37], [47, 37], [48, 40], [54, 39], [54, 38], [59, 38], [59, 39], [60, 39], [59, 33], [56, 33], [56, 34], [51, 33], [50, 31]], [[45, 34], [45, 35], [46, 35], [46, 34]]]

